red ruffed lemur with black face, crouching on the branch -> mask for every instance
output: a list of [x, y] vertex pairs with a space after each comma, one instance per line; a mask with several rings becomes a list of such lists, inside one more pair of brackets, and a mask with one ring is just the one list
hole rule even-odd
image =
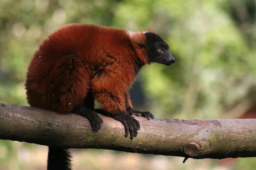
[[[125, 31], [105, 26], [70, 24], [49, 35], [35, 51], [26, 75], [29, 105], [86, 117], [97, 131], [111, 116], [125, 127], [125, 137], [137, 136], [139, 114], [128, 93], [140, 68], [175, 62], [169, 45], [152, 31]], [[102, 109], [94, 109], [94, 100]], [[67, 149], [49, 147], [47, 170], [71, 170]]]

